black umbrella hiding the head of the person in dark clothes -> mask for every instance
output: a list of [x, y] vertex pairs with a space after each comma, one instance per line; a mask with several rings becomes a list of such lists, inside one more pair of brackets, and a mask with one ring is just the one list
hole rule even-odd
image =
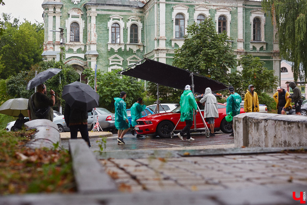
[[99, 95], [95, 90], [77, 81], [64, 86], [62, 97], [72, 109], [87, 111], [98, 107]]

